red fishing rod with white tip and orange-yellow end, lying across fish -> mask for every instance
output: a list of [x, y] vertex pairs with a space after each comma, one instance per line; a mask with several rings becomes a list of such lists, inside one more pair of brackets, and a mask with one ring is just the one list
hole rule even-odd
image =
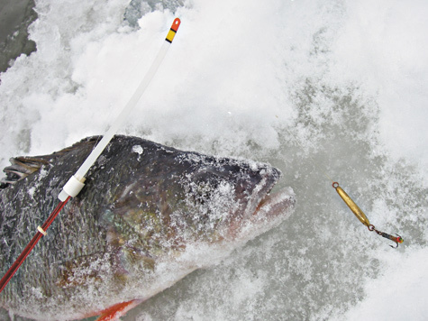
[[179, 18], [176, 18], [174, 20], [168, 31], [167, 37], [165, 38], [165, 42], [160, 48], [155, 60], [152, 62], [149, 71], [141, 80], [139, 87], [137, 87], [128, 103], [123, 107], [122, 112], [116, 117], [114, 123], [105, 132], [101, 141], [96, 144], [96, 148], [92, 150], [91, 153], [87, 156], [87, 159], [82, 163], [77, 172], [73, 176], [71, 176], [70, 179], [68, 179], [68, 182], [64, 185], [61, 192], [59, 193], [58, 206], [56, 206], [55, 209], [50, 213], [50, 216], [47, 218], [43, 225], [37, 226], [37, 233], [32, 237], [32, 241], [28, 243], [23, 252], [18, 256], [16, 261], [14, 261], [14, 264], [12, 264], [9, 270], [5, 273], [2, 280], [0, 280], [0, 293], [3, 291], [3, 289], [5, 289], [5, 286], [7, 285], [9, 280], [11, 280], [14, 276], [14, 273], [18, 271], [19, 267], [21, 266], [21, 264], [23, 264], [23, 261], [25, 261], [30, 252], [32, 252], [34, 246], [40, 241], [41, 236], [47, 234], [47, 229], [52, 224], [53, 220], [59, 215], [59, 212], [62, 210], [62, 208], [66, 206], [68, 200], [71, 197], [76, 197], [77, 194], [85, 186], [85, 175], [87, 175], [87, 171], [92, 167], [92, 165], [94, 165], [98, 157], [105, 150], [107, 144], [112, 140], [114, 134], [117, 133], [121, 125], [131, 114], [132, 108], [137, 105], [142, 94], [144, 94], [144, 91], [149, 86], [151, 79], [155, 76], [161, 62], [165, 58], [168, 49], [172, 41], [174, 40], [174, 37], [176, 36], [180, 23], [181, 21]]

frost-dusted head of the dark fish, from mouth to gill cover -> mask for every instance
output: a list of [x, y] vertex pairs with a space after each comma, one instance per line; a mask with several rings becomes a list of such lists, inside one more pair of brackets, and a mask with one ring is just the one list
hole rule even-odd
[[124, 151], [138, 152], [126, 154], [128, 160], [124, 152], [117, 161], [108, 157], [119, 167], [108, 184], [116, 188], [106, 193], [114, 199], [100, 219], [114, 249], [115, 275], [132, 288], [126, 299], [129, 293], [149, 298], [222, 261], [293, 212], [291, 188], [271, 192], [281, 173], [269, 164], [126, 143]]

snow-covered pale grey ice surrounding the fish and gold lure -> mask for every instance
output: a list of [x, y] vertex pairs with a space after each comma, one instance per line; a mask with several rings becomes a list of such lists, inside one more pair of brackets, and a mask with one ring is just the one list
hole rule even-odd
[[[1, 74], [1, 167], [104, 132], [174, 19], [157, 10], [131, 28], [128, 5], [37, 1], [38, 51]], [[298, 204], [285, 224], [123, 320], [387, 320], [398, 307], [402, 319], [425, 318], [427, 9], [423, 0], [177, 8], [178, 35], [123, 133], [270, 161]], [[323, 172], [405, 243], [392, 250], [369, 233]]]

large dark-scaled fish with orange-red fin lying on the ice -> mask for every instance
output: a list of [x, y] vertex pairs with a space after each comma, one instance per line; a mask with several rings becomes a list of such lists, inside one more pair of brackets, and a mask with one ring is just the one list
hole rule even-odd
[[[5, 168], [2, 276], [98, 139], [14, 158]], [[115, 136], [85, 188], [0, 294], [0, 305], [37, 320], [114, 320], [284, 220], [295, 198], [291, 188], [269, 195], [279, 177], [268, 164]]]

